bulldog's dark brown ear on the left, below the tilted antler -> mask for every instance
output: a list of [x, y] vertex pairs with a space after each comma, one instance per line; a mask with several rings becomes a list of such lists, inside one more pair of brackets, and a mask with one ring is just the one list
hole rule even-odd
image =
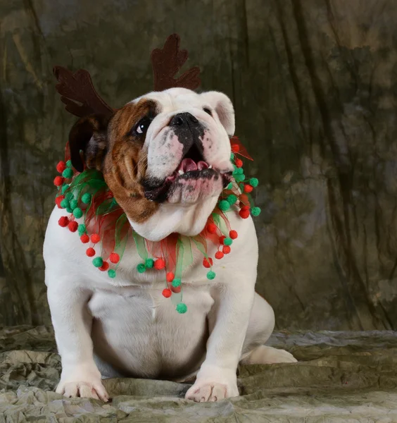
[[106, 154], [109, 116], [90, 115], [79, 119], [69, 133], [70, 160], [82, 172], [88, 168], [101, 171]]

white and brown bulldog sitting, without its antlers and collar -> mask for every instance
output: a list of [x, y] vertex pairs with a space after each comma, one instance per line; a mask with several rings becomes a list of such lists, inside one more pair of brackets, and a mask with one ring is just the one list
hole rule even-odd
[[[73, 166], [103, 173], [134, 231], [151, 241], [200, 233], [231, 180], [234, 109], [220, 92], [151, 92], [110, 118], [81, 118], [70, 131]], [[57, 393], [108, 400], [102, 379], [136, 377], [194, 384], [188, 399], [238, 396], [237, 365], [296, 362], [265, 346], [272, 307], [255, 292], [258, 242], [251, 216], [228, 215], [239, 238], [208, 281], [193, 251], [184, 270], [186, 314], [161, 295], [163, 277], [137, 271], [128, 241], [111, 279], [93, 268], [84, 246], [58, 225], [55, 207], [44, 241], [45, 281], [62, 361]], [[215, 248], [215, 247], [214, 247]], [[215, 251], [208, 247], [208, 255]]]

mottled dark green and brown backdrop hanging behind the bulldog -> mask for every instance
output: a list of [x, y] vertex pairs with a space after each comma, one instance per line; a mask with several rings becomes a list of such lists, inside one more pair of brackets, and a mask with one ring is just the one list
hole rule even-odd
[[42, 243], [74, 122], [52, 66], [120, 106], [179, 32], [256, 159], [277, 326], [396, 329], [397, 1], [1, 0], [0, 19], [0, 324], [49, 323]]

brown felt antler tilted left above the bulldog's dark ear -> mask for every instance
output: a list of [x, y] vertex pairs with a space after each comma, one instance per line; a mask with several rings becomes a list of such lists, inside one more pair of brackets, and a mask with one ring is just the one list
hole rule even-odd
[[94, 113], [113, 114], [111, 106], [95, 91], [88, 71], [80, 69], [72, 73], [62, 66], [54, 66], [53, 74], [59, 82], [56, 90], [61, 94], [61, 101], [66, 104], [68, 112], [79, 117]]

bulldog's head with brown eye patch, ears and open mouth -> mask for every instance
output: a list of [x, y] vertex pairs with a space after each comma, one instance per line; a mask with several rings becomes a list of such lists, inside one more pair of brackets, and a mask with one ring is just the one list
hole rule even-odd
[[232, 176], [233, 133], [225, 94], [172, 88], [139, 97], [110, 118], [80, 119], [69, 142], [77, 171], [85, 161], [103, 172], [133, 228], [160, 240], [201, 232]]

